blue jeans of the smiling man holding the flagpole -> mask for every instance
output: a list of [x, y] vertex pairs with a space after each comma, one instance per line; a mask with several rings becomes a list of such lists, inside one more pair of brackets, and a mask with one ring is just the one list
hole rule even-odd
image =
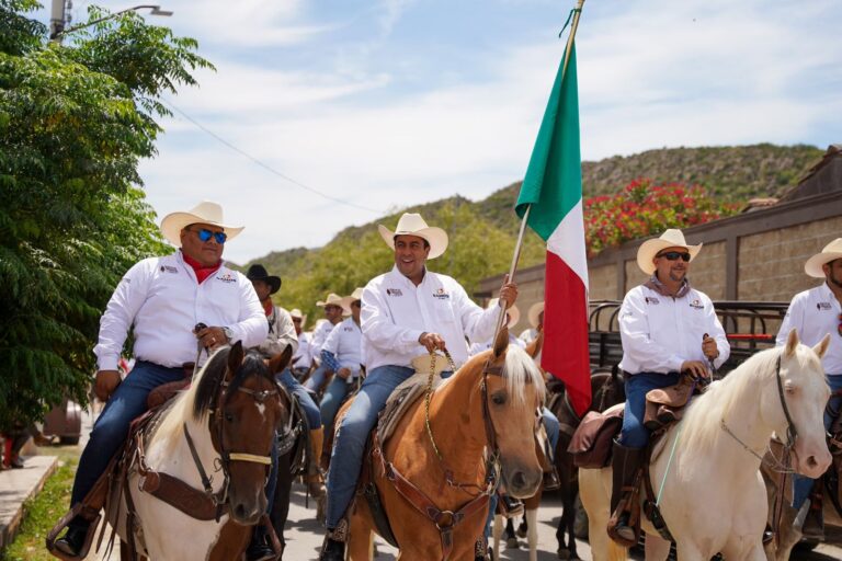
[[[379, 366], [368, 373], [348, 413], [342, 417], [333, 442], [328, 471], [328, 513], [326, 526], [335, 529], [354, 499], [356, 480], [363, 467], [368, 433], [377, 424], [377, 414], [391, 392], [414, 370], [406, 366]], [[442, 373], [446, 378], [452, 373]]]

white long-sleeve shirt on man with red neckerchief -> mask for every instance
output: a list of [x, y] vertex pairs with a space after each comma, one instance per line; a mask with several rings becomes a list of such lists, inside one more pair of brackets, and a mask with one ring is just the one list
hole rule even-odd
[[[179, 367], [196, 359], [196, 323], [227, 327], [231, 343], [259, 345], [269, 327], [263, 307], [246, 275], [225, 265], [196, 282], [181, 251], [149, 257], [123, 276], [100, 320], [93, 352], [101, 370], [116, 370], [128, 329], [134, 325], [135, 357], [161, 366]], [[203, 353], [200, 362], [207, 358]]]

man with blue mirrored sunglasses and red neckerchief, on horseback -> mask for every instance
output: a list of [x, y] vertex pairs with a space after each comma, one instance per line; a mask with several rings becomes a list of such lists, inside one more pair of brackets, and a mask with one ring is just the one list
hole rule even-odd
[[[104, 502], [104, 496], [88, 495], [125, 442], [132, 420], [146, 411], [149, 392], [184, 379], [185, 365], [196, 360], [197, 346], [209, 353], [236, 341], [258, 345], [266, 336], [266, 320], [251, 283], [221, 260], [225, 242], [241, 230], [224, 224], [216, 203], [203, 202], [187, 213], [167, 215], [161, 232], [179, 249], [140, 261], [115, 288], [94, 347], [100, 367], [94, 392], [107, 404], [79, 459], [70, 500], [71, 506], [84, 500], [87, 508], [55, 543], [67, 558], [84, 552], [89, 529], [93, 530], [90, 520]], [[197, 322], [210, 327], [194, 333]], [[117, 360], [129, 329], [137, 360], [121, 381]], [[203, 354], [207, 357], [200, 353], [200, 362]]]

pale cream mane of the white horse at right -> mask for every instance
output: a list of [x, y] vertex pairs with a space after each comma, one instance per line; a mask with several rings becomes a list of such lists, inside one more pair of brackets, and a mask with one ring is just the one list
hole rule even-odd
[[[821, 363], [815, 353], [805, 353], [806, 345], [798, 345], [792, 360], [798, 360], [801, 371], [815, 370], [820, 374]], [[683, 421], [679, 446], [694, 447], [696, 450], [710, 449], [717, 438], [721, 437], [719, 421], [740, 404], [740, 398], [748, 391], [756, 393], [759, 385], [775, 376], [777, 357], [784, 352], [782, 347], [767, 348], [750, 356], [719, 381], [712, 383], [707, 391], [695, 398], [693, 407], [689, 408]], [[807, 364], [807, 363], [815, 364]], [[805, 368], [806, 367], [806, 368]]]

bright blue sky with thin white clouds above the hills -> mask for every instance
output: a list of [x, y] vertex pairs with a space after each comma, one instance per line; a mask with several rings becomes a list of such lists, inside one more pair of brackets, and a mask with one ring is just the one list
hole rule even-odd
[[[164, 99], [175, 114], [140, 165], [147, 198], [159, 219], [220, 203], [226, 221], [246, 226], [225, 250], [235, 263], [521, 180], [574, 5], [156, 1], [174, 13], [147, 22], [197, 39], [216, 71]], [[73, 3], [73, 24], [90, 3]], [[582, 158], [842, 142], [840, 28], [839, 0], [587, 1]]]

